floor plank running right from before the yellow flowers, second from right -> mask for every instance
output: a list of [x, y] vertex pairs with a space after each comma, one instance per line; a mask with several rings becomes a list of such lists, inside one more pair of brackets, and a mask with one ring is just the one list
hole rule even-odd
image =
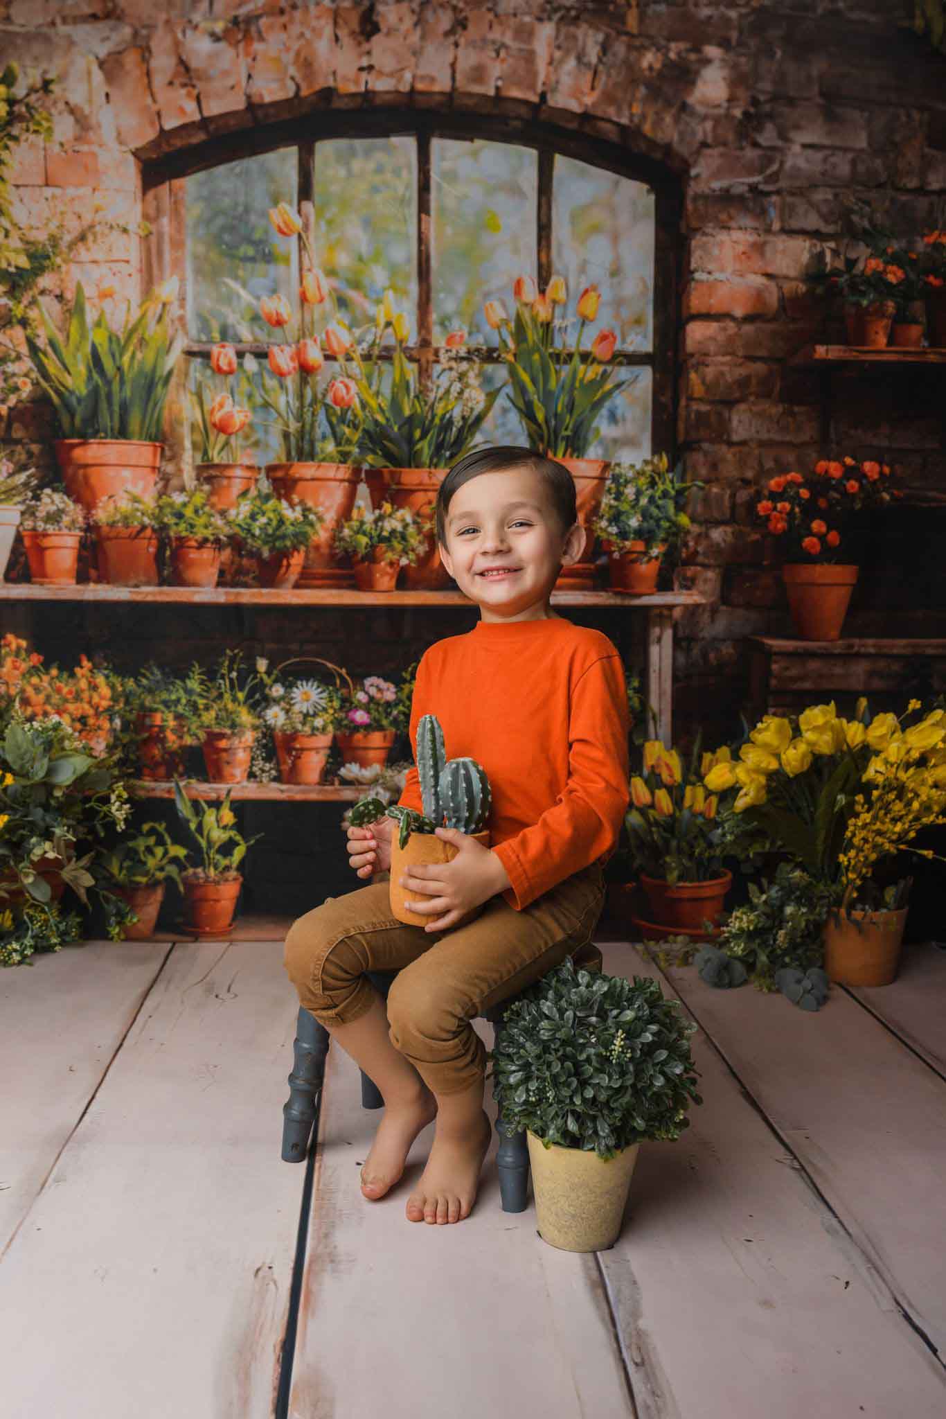
[[694, 966], [667, 978], [946, 1361], [943, 1080], [844, 990], [807, 1012]]

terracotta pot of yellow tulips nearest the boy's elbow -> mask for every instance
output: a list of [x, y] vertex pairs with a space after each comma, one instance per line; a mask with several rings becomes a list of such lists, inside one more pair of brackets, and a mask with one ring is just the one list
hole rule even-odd
[[723, 867], [730, 844], [718, 819], [719, 799], [703, 788], [699, 763], [699, 744], [684, 768], [677, 749], [648, 739], [624, 822], [648, 900], [647, 925], [702, 935], [722, 914], [732, 873]]

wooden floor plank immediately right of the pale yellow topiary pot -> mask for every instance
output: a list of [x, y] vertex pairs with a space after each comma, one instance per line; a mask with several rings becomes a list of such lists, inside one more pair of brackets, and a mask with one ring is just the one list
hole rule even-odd
[[[654, 976], [675, 996], [634, 948], [601, 951], [608, 973]], [[716, 992], [730, 1006], [738, 993]], [[641, 1147], [621, 1237], [600, 1253], [640, 1419], [939, 1419], [939, 1362], [703, 1030], [691, 1047], [703, 1103], [677, 1142]]]

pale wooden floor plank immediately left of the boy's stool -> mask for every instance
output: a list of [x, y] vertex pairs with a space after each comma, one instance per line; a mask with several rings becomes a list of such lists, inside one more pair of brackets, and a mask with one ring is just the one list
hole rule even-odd
[[4, 1419], [272, 1413], [305, 1175], [281, 952], [173, 949], [0, 1266]]

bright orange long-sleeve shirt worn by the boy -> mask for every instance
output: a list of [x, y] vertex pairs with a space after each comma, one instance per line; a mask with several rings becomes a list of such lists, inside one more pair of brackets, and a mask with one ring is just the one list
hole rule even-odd
[[[489, 776], [491, 847], [516, 911], [613, 854], [630, 802], [630, 719], [621, 657], [597, 630], [564, 617], [478, 622], [424, 651], [410, 738], [435, 714], [448, 759]], [[399, 799], [423, 812], [417, 768]]]

